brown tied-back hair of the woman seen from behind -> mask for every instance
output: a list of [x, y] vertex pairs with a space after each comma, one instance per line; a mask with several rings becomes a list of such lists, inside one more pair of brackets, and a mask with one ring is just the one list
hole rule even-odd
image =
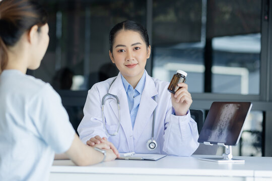
[[8, 64], [8, 49], [34, 25], [47, 23], [47, 13], [32, 0], [3, 0], [0, 2], [0, 73]]

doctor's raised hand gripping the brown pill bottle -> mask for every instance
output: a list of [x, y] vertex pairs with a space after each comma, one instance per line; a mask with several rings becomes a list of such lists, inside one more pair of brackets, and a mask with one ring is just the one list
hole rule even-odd
[[171, 93], [172, 106], [177, 116], [185, 116], [192, 104], [191, 94], [186, 83], [178, 83], [181, 88], [175, 94]]

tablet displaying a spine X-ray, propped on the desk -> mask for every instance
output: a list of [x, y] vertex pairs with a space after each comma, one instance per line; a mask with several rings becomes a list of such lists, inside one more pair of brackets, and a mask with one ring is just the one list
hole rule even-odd
[[201, 129], [198, 142], [236, 145], [250, 109], [250, 102], [214, 102]]

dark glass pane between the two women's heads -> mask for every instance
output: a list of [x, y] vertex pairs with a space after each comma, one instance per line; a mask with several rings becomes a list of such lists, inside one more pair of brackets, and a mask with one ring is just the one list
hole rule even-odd
[[146, 26], [146, 1], [45, 1], [49, 13], [48, 50], [37, 78], [55, 89], [87, 90], [117, 68], [109, 58], [109, 31], [124, 20]]

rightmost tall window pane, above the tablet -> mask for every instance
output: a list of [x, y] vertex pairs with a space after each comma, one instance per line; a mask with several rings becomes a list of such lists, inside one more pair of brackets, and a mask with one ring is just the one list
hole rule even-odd
[[212, 92], [258, 95], [261, 1], [208, 1], [207, 11], [207, 36], [213, 50]]

